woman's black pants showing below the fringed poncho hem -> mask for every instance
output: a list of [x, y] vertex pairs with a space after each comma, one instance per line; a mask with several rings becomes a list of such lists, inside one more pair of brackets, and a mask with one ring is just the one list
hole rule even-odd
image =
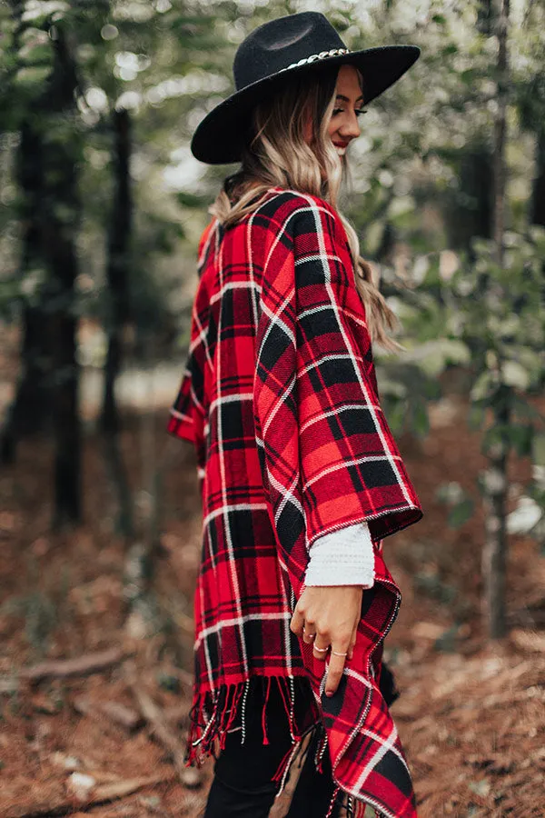
[[[278, 784], [272, 781], [282, 758], [292, 748], [289, 723], [282, 696], [275, 680], [266, 706], [268, 744], [263, 744], [263, 684], [253, 679], [245, 706], [245, 739], [237, 730], [227, 733], [225, 748], [214, 765], [214, 778], [204, 818], [266, 818], [272, 807]], [[296, 708], [308, 706], [296, 700]], [[297, 712], [296, 712], [297, 715]], [[322, 757], [322, 773], [316, 771], [314, 754], [319, 734], [312, 733], [308, 752], [292, 796], [286, 818], [324, 818], [332, 801], [335, 784], [326, 748]], [[339, 818], [335, 805], [332, 818]]]

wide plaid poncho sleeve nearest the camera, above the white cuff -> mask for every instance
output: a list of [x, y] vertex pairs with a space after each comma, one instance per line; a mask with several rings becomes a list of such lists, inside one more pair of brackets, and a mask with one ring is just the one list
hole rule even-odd
[[[365, 522], [380, 545], [422, 512], [381, 409], [338, 214], [300, 196], [275, 241], [263, 271], [254, 409], [281, 551], [302, 581], [323, 534]], [[307, 557], [291, 547], [301, 527]]]

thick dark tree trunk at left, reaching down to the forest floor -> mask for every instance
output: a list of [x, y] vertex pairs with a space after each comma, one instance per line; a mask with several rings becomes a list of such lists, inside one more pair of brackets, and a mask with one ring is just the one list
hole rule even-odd
[[81, 155], [77, 132], [75, 66], [64, 31], [52, 26], [54, 68], [43, 101], [45, 165], [41, 244], [49, 273], [51, 354], [54, 373], [54, 526], [81, 520], [81, 424], [78, 411], [79, 364], [74, 310], [77, 257], [75, 235], [81, 204], [77, 188]]

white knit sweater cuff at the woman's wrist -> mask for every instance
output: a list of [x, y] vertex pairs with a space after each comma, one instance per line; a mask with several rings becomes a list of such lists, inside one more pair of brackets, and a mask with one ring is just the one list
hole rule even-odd
[[374, 550], [366, 523], [324, 534], [314, 540], [305, 585], [362, 585], [374, 583]]

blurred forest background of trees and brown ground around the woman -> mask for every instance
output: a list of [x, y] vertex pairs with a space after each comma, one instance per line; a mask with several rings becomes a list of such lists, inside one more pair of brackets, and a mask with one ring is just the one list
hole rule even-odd
[[8, 0], [5, 818], [203, 808], [210, 769], [183, 767], [201, 507], [165, 426], [207, 207], [236, 166], [189, 143], [243, 37], [311, 8], [349, 48], [422, 50], [362, 117], [342, 197], [406, 348], [375, 360], [424, 510], [384, 545], [419, 812], [543, 814], [545, 3]]

